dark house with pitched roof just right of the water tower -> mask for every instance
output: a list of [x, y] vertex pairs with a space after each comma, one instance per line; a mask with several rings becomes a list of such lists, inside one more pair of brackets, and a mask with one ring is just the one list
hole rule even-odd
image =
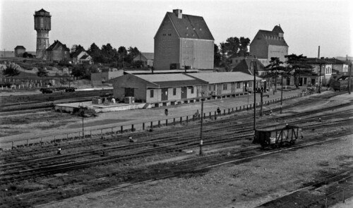
[[49, 61], [68, 61], [70, 60], [70, 49], [66, 44], [62, 44], [59, 40], [55, 40], [45, 50], [45, 59]]

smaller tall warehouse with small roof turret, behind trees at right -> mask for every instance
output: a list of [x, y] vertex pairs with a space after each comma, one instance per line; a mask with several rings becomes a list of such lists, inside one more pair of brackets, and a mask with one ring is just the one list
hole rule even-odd
[[264, 66], [268, 66], [271, 57], [278, 57], [280, 61], [286, 61], [288, 45], [280, 25], [275, 25], [272, 31], [258, 30], [250, 43], [250, 54], [256, 56]]

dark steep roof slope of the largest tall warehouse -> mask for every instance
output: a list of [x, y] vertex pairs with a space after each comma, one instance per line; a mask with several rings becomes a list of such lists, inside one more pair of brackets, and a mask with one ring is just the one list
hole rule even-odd
[[172, 20], [179, 37], [215, 40], [203, 17], [182, 14], [182, 17], [178, 18], [177, 14], [172, 12], [167, 12], [167, 16]]

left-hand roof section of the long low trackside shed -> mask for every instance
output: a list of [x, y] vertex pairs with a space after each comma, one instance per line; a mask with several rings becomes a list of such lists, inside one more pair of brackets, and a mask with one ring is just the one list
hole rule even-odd
[[192, 85], [203, 85], [205, 82], [196, 80], [188, 75], [182, 73], [174, 74], [148, 74], [148, 75], [134, 75], [140, 79], [151, 82], [152, 84], [162, 87], [184, 87]]

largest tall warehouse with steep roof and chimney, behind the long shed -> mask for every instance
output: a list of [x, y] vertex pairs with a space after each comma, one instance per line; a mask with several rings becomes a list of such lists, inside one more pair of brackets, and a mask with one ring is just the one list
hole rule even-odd
[[155, 69], [212, 69], [214, 42], [203, 17], [167, 12], [155, 35]]

